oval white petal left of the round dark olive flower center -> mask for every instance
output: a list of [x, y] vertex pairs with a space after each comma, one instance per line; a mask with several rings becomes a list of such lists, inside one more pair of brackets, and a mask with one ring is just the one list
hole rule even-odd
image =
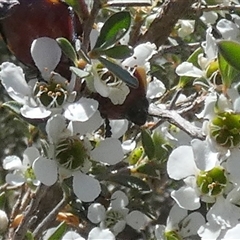
[[39, 157], [33, 162], [36, 178], [46, 186], [53, 185], [58, 178], [57, 164], [54, 160]]

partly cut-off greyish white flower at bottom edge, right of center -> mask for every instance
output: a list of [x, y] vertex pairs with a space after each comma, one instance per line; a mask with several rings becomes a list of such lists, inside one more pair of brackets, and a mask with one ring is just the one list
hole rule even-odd
[[204, 217], [193, 212], [188, 215], [186, 209], [180, 208], [175, 204], [170, 210], [166, 227], [164, 225], [155, 226], [155, 236], [157, 240], [171, 239], [171, 235], [176, 234], [179, 238], [184, 239], [193, 235], [197, 235], [198, 229], [205, 223]]

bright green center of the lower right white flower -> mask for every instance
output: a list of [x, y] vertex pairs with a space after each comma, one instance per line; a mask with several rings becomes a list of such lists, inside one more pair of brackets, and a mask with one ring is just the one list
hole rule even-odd
[[222, 167], [215, 167], [210, 171], [202, 171], [197, 176], [197, 186], [203, 194], [216, 196], [226, 187], [227, 177]]

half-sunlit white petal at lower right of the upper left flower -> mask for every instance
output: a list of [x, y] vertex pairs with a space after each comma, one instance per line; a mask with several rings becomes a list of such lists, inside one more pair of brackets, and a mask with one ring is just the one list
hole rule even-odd
[[81, 98], [78, 102], [67, 107], [64, 116], [70, 121], [85, 122], [89, 120], [98, 109], [98, 102], [90, 98]]

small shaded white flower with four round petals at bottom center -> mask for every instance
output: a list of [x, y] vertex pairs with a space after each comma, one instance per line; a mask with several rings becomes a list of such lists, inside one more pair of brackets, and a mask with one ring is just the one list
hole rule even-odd
[[122, 232], [126, 224], [139, 230], [146, 224], [146, 216], [140, 211], [129, 212], [126, 208], [128, 197], [122, 191], [112, 194], [111, 204], [106, 210], [100, 203], [93, 203], [88, 208], [88, 219], [102, 228], [109, 228], [115, 235]]

